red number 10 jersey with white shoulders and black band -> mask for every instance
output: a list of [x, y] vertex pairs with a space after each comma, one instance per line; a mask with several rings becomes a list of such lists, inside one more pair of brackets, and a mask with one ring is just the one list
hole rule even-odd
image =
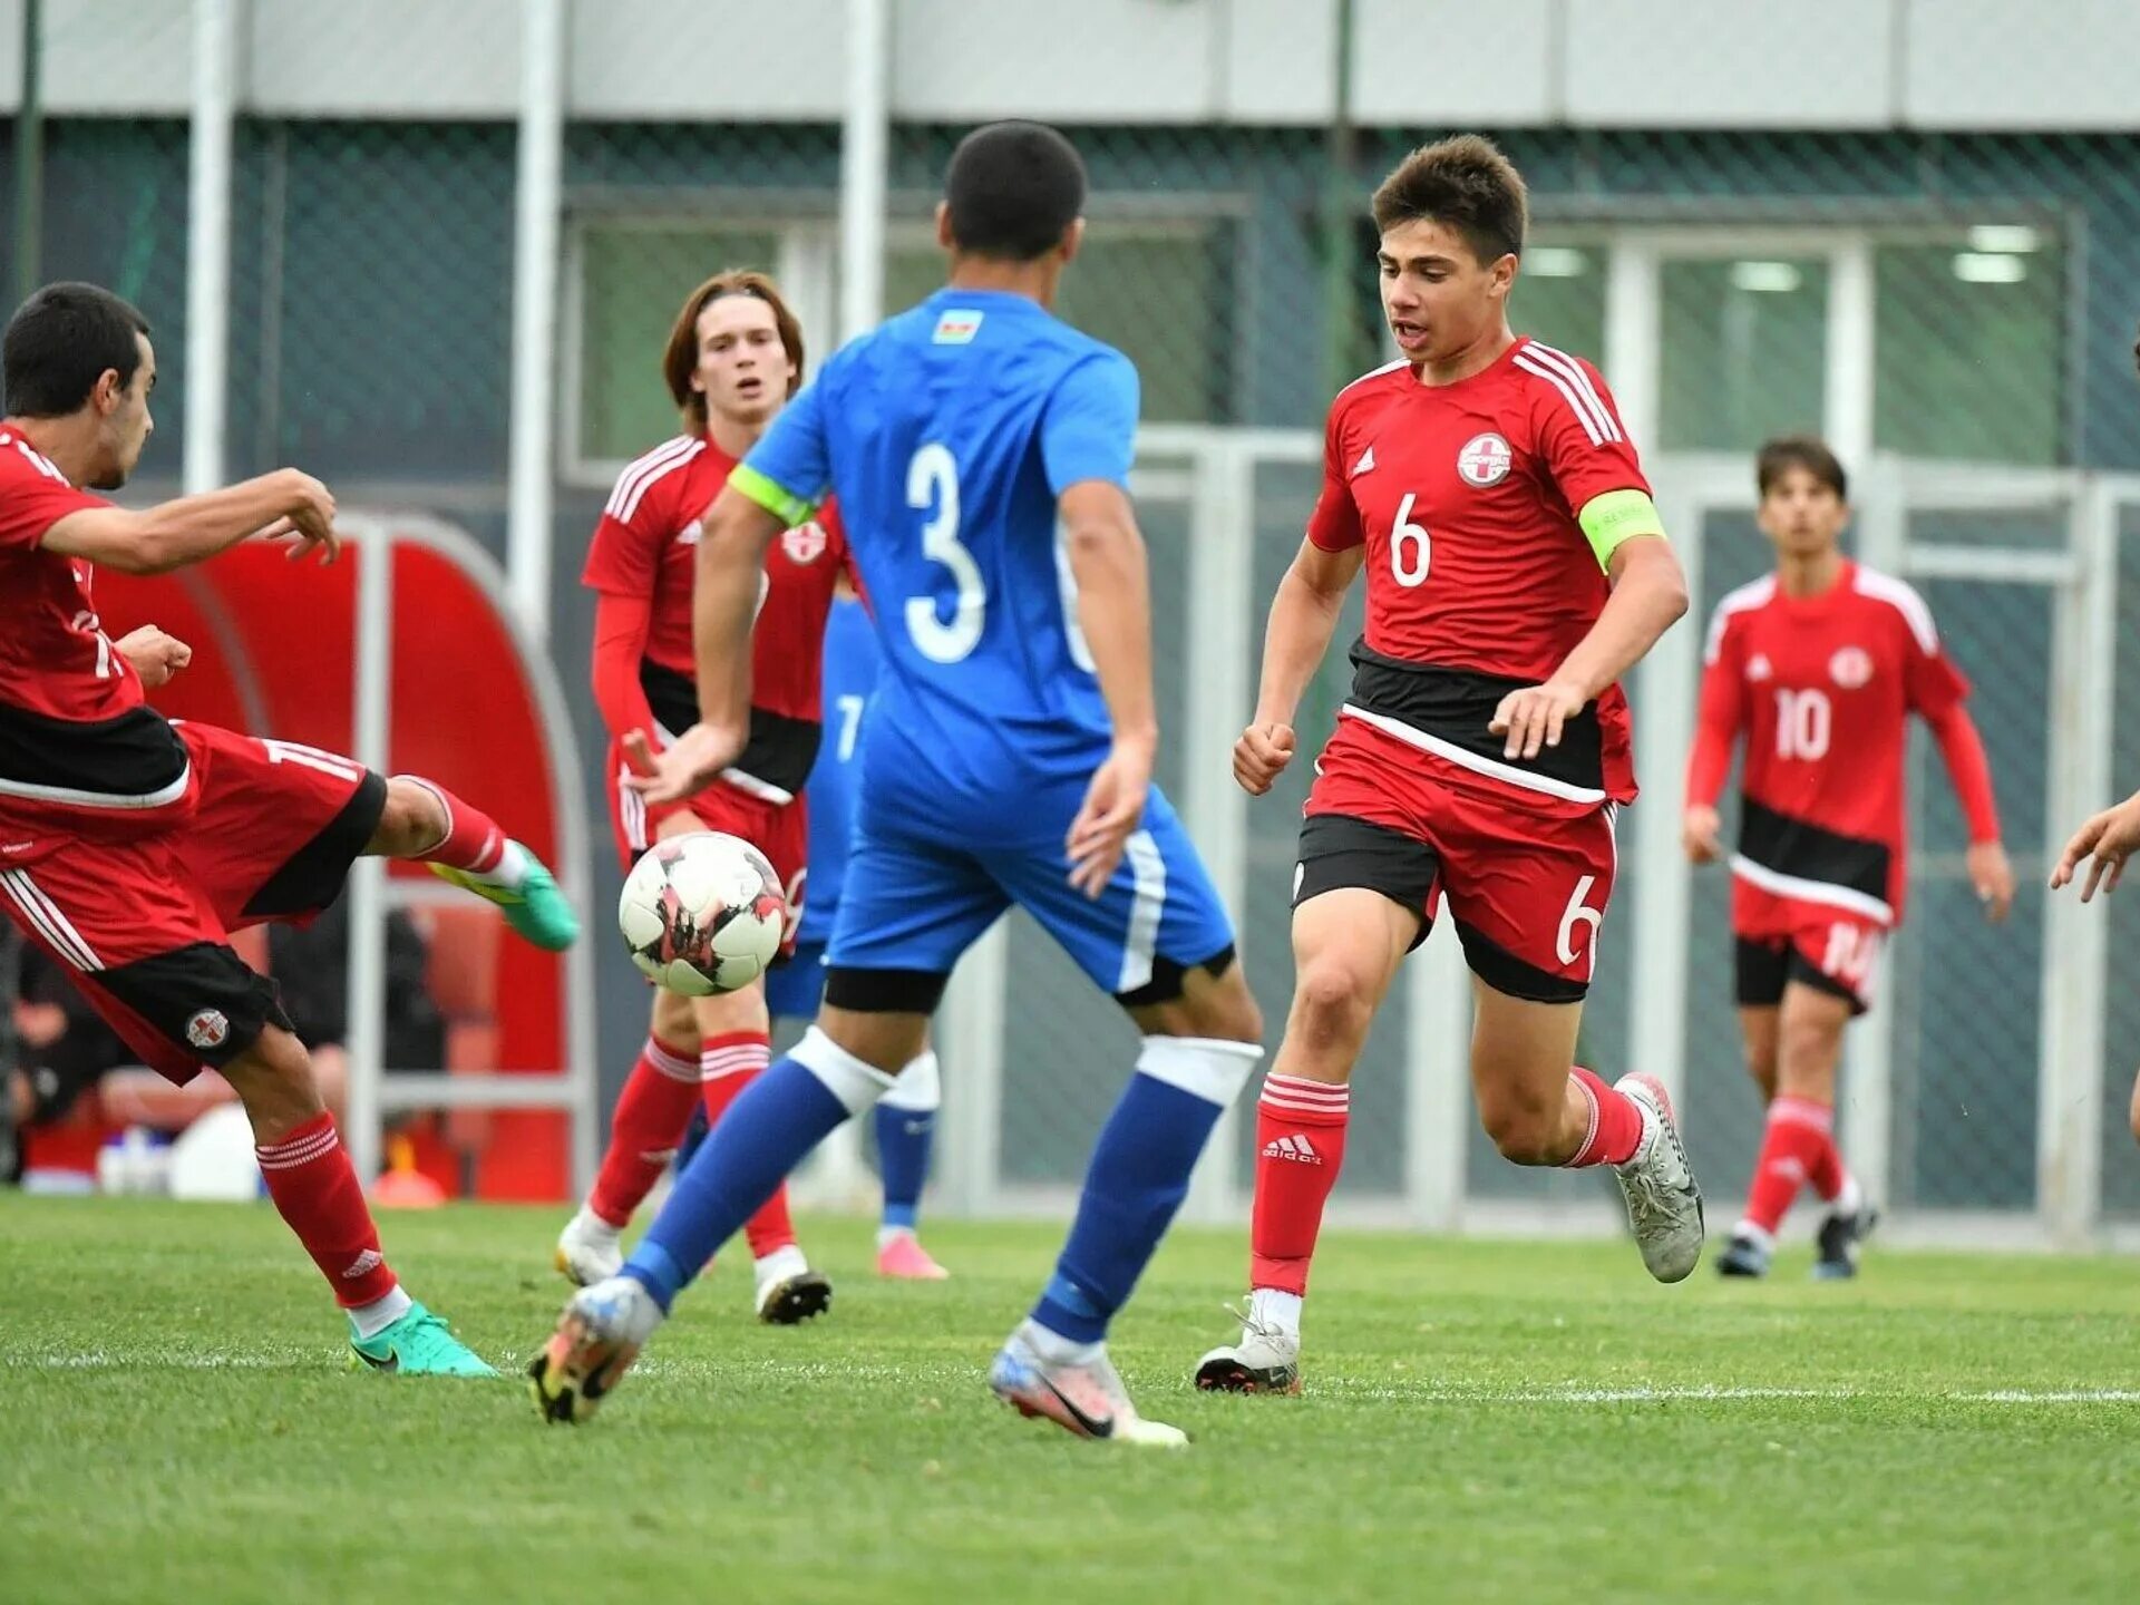
[[1727, 595], [1710, 618], [1701, 725], [1727, 749], [1746, 734], [1733, 873], [1900, 920], [1905, 721], [1967, 696], [1902, 580], [1845, 563], [1817, 597], [1785, 595], [1776, 576]]

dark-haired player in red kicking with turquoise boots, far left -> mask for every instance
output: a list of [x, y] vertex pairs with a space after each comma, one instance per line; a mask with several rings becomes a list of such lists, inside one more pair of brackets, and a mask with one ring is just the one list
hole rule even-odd
[[126, 484], [154, 428], [148, 332], [94, 285], [47, 285], [6, 325], [0, 907], [143, 1064], [180, 1085], [210, 1064], [231, 1083], [268, 1196], [334, 1288], [357, 1359], [490, 1376], [387, 1269], [312, 1064], [229, 933], [310, 920], [362, 854], [428, 862], [541, 948], [569, 946], [578, 920], [526, 847], [434, 781], [148, 706], [143, 687], [190, 653], [156, 629], [105, 636], [96, 565], [167, 574], [255, 533], [293, 539], [291, 556], [340, 550], [334, 496], [295, 469], [148, 511], [90, 494]]

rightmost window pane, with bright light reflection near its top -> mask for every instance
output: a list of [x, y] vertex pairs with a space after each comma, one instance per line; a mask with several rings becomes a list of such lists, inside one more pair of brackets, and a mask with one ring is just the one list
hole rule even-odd
[[1872, 253], [1872, 432], [1915, 458], [2059, 462], [2065, 261], [1986, 225]]

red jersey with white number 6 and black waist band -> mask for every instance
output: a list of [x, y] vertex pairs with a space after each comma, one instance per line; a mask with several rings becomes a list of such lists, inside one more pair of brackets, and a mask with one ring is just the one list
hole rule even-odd
[[1308, 537], [1327, 552], [1367, 548], [1346, 710], [1385, 730], [1393, 719], [1402, 738], [1425, 734], [1415, 745], [1517, 785], [1631, 800], [1620, 687], [1532, 764], [1502, 760], [1485, 728], [1603, 612], [1611, 586], [1577, 514], [1609, 490], [1650, 490], [1611, 392], [1588, 362], [1537, 340], [1453, 385], [1423, 385], [1395, 362], [1338, 392]]

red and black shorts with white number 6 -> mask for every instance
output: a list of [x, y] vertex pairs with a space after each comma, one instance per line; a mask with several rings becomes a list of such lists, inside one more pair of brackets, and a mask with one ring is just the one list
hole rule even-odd
[[1590, 991], [1618, 850], [1611, 802], [1571, 802], [1474, 775], [1357, 719], [1316, 762], [1293, 903], [1365, 886], [1417, 910], [1436, 897], [1487, 987], [1541, 1004]]

